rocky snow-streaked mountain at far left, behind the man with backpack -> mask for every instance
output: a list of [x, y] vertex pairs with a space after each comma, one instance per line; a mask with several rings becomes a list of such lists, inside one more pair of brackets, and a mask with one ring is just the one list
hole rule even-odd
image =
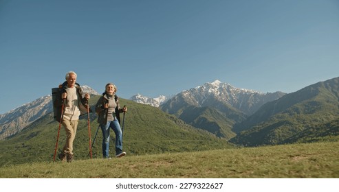
[[[89, 86], [84, 85], [81, 88], [84, 94], [99, 95]], [[0, 115], [0, 140], [20, 132], [25, 126], [52, 112], [52, 110], [52, 95], [46, 95]]]

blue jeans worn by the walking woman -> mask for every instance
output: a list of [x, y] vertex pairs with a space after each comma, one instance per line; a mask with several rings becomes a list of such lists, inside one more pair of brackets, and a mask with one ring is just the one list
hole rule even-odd
[[118, 119], [114, 117], [114, 121], [107, 121], [106, 125], [100, 125], [102, 130], [102, 155], [104, 158], [109, 157], [109, 128], [112, 128], [116, 134], [116, 154], [122, 153], [122, 131]]

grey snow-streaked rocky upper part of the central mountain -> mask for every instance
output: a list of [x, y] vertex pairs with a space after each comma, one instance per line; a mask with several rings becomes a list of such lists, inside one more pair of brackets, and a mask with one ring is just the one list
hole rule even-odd
[[263, 104], [268, 101], [274, 101], [283, 95], [285, 93], [260, 93], [244, 88], [236, 88], [228, 83], [215, 80], [178, 93], [164, 103], [163, 110], [169, 112], [171, 108], [177, 108], [177, 105], [182, 105], [182, 102], [179, 101], [184, 100], [185, 103], [197, 107], [210, 106], [217, 108], [220, 104], [227, 104], [244, 112], [246, 115], [252, 115]]

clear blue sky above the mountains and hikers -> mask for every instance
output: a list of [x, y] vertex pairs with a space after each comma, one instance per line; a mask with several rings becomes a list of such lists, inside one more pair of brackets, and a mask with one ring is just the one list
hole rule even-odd
[[0, 64], [0, 114], [67, 71], [126, 99], [214, 80], [292, 93], [339, 76], [339, 1], [0, 0]]

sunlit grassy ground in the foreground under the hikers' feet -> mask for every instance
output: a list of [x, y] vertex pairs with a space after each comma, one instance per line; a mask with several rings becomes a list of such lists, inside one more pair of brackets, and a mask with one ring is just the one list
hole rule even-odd
[[339, 178], [339, 142], [0, 167], [1, 178]]

